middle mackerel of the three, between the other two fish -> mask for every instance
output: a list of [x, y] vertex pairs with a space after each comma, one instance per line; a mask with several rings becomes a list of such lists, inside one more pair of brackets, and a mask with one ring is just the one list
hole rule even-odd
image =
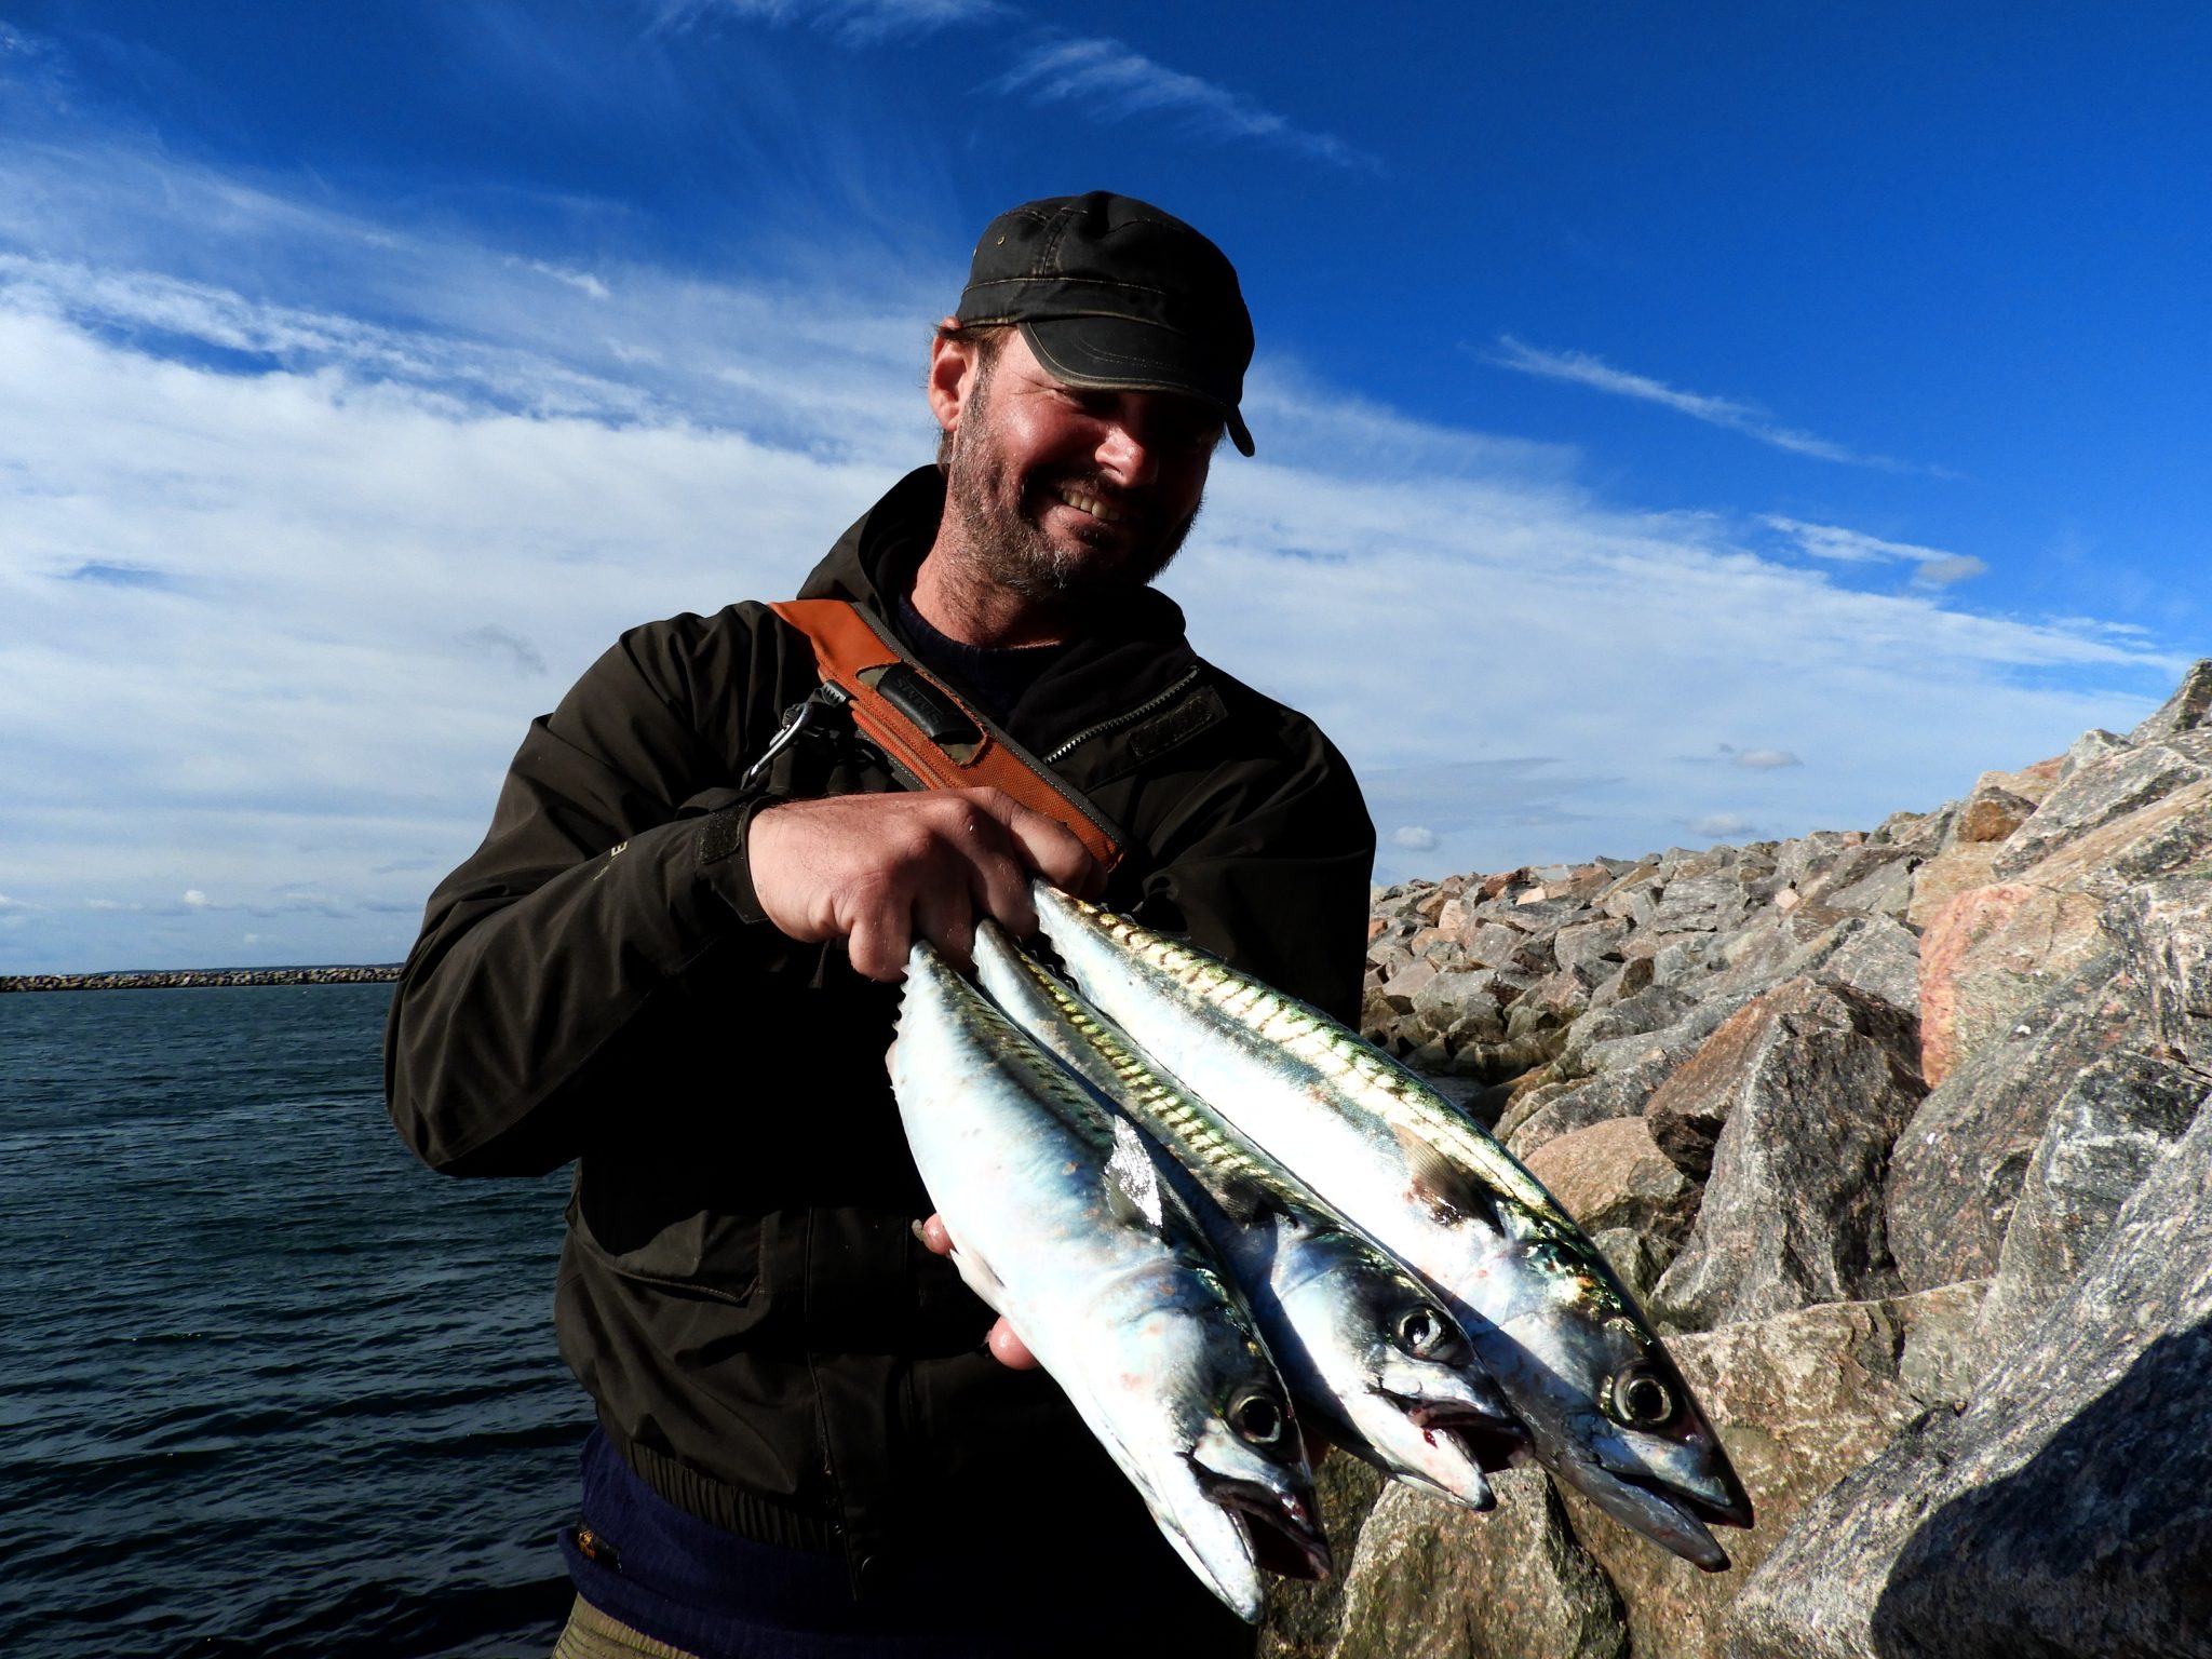
[[1301, 1411], [1385, 1471], [1489, 1509], [1495, 1498], [1469, 1440], [1486, 1444], [1495, 1467], [1522, 1431], [1444, 1305], [993, 922], [978, 929], [975, 971], [1009, 1020], [1150, 1130], [1197, 1183], [1192, 1210]]

